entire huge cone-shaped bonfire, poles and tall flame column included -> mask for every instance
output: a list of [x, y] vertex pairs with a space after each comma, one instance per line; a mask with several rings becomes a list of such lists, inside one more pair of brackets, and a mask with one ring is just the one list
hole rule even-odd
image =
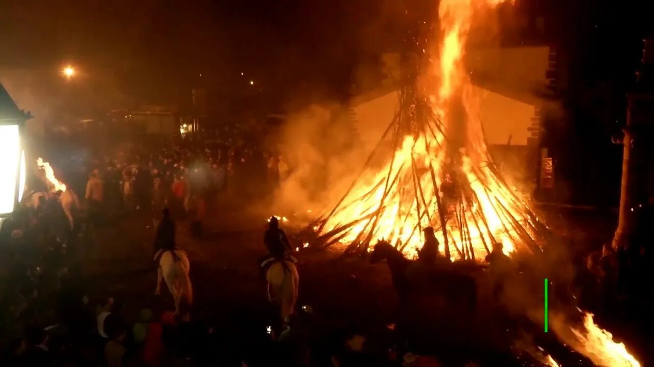
[[[440, 3], [443, 36], [434, 71], [440, 85], [401, 91], [400, 110], [382, 137], [394, 142], [392, 156], [383, 168], [370, 167], [388, 153], [380, 142], [358, 180], [320, 218], [317, 232], [327, 246], [341, 242], [352, 244], [350, 251], [367, 251], [373, 237], [385, 238], [415, 257], [422, 229], [433, 227], [449, 259], [479, 258], [494, 242], [502, 242], [505, 253], [540, 251], [547, 229], [492, 162], [477, 96], [464, 80], [462, 56], [473, 12], [498, 2]], [[456, 105], [464, 108], [464, 121], [452, 117]]]

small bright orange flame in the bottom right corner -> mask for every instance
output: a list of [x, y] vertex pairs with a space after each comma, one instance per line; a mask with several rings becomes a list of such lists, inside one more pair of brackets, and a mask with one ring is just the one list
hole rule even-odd
[[613, 342], [613, 335], [594, 323], [593, 313], [584, 313], [583, 327], [583, 330], [570, 329], [580, 345], [576, 349], [594, 364], [602, 367], [640, 367], [640, 362], [627, 351], [625, 344]]

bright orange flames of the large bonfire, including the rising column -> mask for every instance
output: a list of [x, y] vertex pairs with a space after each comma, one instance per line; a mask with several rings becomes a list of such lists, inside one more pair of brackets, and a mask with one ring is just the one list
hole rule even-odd
[[[455, 259], [474, 258], [477, 251], [487, 252], [494, 242], [504, 244], [511, 253], [525, 242], [536, 242], [535, 217], [526, 204], [511, 191], [492, 165], [472, 86], [466, 82], [462, 57], [475, 11], [497, 5], [500, 0], [442, 0], [439, 5], [441, 43], [439, 45], [440, 85], [430, 99], [434, 114], [442, 126], [431, 127], [432, 135], [419, 133], [404, 136], [393, 159], [381, 170], [366, 172], [345, 199], [349, 202], [326, 218], [320, 235], [337, 231], [345, 223], [361, 219], [339, 232], [339, 242], [362, 241], [363, 232], [385, 238], [401, 246], [408, 257], [415, 257], [422, 246], [417, 229], [434, 227], [441, 244], [456, 249]], [[447, 159], [456, 148], [445, 138], [452, 121], [445, 119], [449, 101], [460, 99], [467, 114], [464, 146], [460, 148], [458, 171], [472, 195], [458, 208], [443, 199], [443, 183], [448, 183]], [[412, 167], [417, 167], [413, 170]], [[432, 176], [432, 172], [434, 176]], [[387, 177], [397, 178], [388, 180]], [[459, 178], [460, 180], [460, 178]], [[437, 189], [438, 188], [438, 189]], [[368, 194], [366, 194], [368, 193]], [[417, 198], [421, 198], [420, 200]], [[440, 201], [445, 202], [441, 207]], [[446, 223], [439, 212], [447, 212]], [[375, 217], [375, 219], [370, 219]], [[368, 219], [366, 219], [368, 218]], [[438, 229], [440, 227], [440, 229]], [[445, 228], [443, 228], [445, 227]], [[445, 238], [449, 238], [446, 242]], [[454, 242], [454, 243], [453, 243]]]

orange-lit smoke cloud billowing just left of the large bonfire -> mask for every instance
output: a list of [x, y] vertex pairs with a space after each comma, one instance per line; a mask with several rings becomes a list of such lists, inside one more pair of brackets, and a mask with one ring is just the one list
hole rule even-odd
[[348, 108], [337, 103], [312, 104], [288, 118], [279, 152], [288, 165], [274, 197], [284, 212], [326, 208], [343, 195], [367, 153], [358, 143]]

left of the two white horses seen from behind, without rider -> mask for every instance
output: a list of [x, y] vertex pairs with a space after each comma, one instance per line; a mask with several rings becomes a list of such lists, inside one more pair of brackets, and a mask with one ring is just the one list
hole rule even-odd
[[[178, 315], [180, 313], [182, 300], [186, 302], [186, 306], [189, 308], [192, 306], [193, 287], [191, 285], [191, 279], [188, 278], [191, 264], [188, 261], [186, 252], [177, 249], [175, 250], [175, 255], [179, 258], [177, 261], [173, 257], [172, 251], [169, 250], [161, 249], [156, 253], [156, 255], [154, 255], [154, 259], [160, 257], [157, 269], [157, 287], [154, 294], [159, 295], [161, 293], [161, 283], [163, 278], [168, 286], [168, 290], [171, 295], [173, 295], [173, 299], [175, 300], [175, 314]], [[188, 310], [184, 311], [184, 313], [187, 312]], [[182, 316], [186, 317], [186, 315]]]

